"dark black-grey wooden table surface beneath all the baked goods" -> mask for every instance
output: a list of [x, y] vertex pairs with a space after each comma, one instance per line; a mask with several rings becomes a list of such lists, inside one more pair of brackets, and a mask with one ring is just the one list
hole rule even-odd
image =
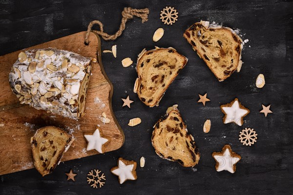
[[[102, 40], [102, 50], [117, 44], [117, 58], [103, 54], [105, 71], [114, 85], [113, 110], [124, 130], [125, 144], [117, 151], [61, 163], [48, 176], [42, 177], [35, 169], [0, 176], [1, 195], [94, 195], [94, 194], [293, 194], [293, 2], [286, 0], [1, 0], [0, 55], [22, 48], [84, 31], [92, 20], [101, 20], [105, 31], [117, 31], [124, 7], [149, 8], [149, 20], [142, 24], [134, 18], [115, 41]], [[174, 6], [178, 21], [164, 25], [160, 11]], [[240, 29], [245, 44], [240, 73], [218, 82], [202, 59], [196, 55], [183, 33], [199, 20], [223, 23]], [[163, 27], [164, 37], [152, 41], [154, 31]], [[133, 93], [136, 78], [134, 63], [123, 68], [121, 60], [136, 59], [143, 48], [174, 47], [188, 57], [187, 66], [180, 72], [163, 97], [160, 106], [146, 107]], [[134, 60], [136, 61], [136, 60]], [[255, 87], [258, 74], [264, 74], [266, 85]], [[198, 94], [208, 93], [211, 99], [204, 107], [198, 104]], [[131, 109], [122, 107], [121, 98], [135, 102]], [[223, 124], [220, 105], [239, 98], [250, 109], [242, 127]], [[182, 117], [194, 135], [201, 159], [194, 168], [181, 167], [176, 162], [161, 159], [154, 152], [150, 137], [152, 126], [168, 106], [178, 104]], [[261, 104], [271, 104], [272, 114], [259, 113]], [[140, 117], [142, 123], [127, 125], [129, 118]], [[212, 122], [208, 134], [203, 123]], [[243, 146], [239, 131], [253, 128], [257, 142]], [[242, 156], [235, 174], [216, 172], [211, 153], [230, 144]], [[146, 166], [137, 168], [138, 179], [118, 183], [110, 173], [122, 156], [139, 162], [146, 157]], [[64, 173], [73, 169], [76, 181], [67, 181]], [[101, 169], [106, 184], [93, 189], [86, 182], [87, 172]]]

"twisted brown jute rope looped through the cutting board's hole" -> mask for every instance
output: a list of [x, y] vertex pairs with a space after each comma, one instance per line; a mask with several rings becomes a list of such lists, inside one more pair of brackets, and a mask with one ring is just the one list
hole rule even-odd
[[[142, 23], [146, 22], [148, 19], [147, 19], [147, 16], [148, 16], [148, 9], [145, 8], [145, 9], [132, 9], [131, 7], [125, 7], [124, 10], [122, 11], [122, 20], [121, 20], [121, 24], [120, 24], [120, 27], [119, 27], [119, 30], [114, 34], [114, 35], [109, 35], [107, 33], [104, 32], [104, 28], [103, 28], [103, 23], [99, 20], [93, 20], [89, 23], [88, 27], [87, 27], [87, 32], [86, 32], [86, 35], [85, 35], [85, 39], [84, 39], [84, 42], [86, 44], [88, 44], [88, 36], [89, 36], [89, 33], [92, 31], [94, 33], [97, 33], [98, 35], [100, 35], [103, 39], [105, 40], [115, 40], [117, 39], [117, 37], [119, 37], [122, 32], [124, 31], [125, 29], [125, 24], [126, 24], [126, 21], [129, 20], [129, 19], [132, 19], [133, 16], [136, 16], [136, 17], [139, 17], [142, 19]], [[100, 26], [100, 31], [97, 31], [97, 30], [92, 30], [92, 27], [94, 24], [99, 24]]]

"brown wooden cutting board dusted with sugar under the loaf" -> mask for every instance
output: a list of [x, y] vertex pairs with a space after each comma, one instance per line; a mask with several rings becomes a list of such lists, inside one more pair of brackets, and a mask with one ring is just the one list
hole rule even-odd
[[[53, 47], [97, 59], [89, 78], [86, 114], [78, 121], [20, 104], [10, 89], [8, 75], [18, 54], [23, 50], [0, 57], [0, 175], [34, 168], [30, 138], [43, 126], [60, 127], [76, 138], [62, 161], [98, 154], [95, 150], [85, 150], [87, 142], [84, 138], [84, 134], [92, 134], [96, 128], [102, 130], [106, 137], [111, 137], [111, 141], [105, 144], [105, 152], [117, 150], [123, 145], [124, 134], [112, 111], [113, 86], [102, 65], [101, 40], [98, 35], [91, 33], [89, 44], [85, 45], [85, 33], [76, 33], [24, 49]], [[103, 112], [110, 123], [103, 124], [101, 121]]]

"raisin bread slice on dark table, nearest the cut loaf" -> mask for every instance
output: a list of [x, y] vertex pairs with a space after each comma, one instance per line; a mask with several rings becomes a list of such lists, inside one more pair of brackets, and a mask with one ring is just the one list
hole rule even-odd
[[158, 106], [165, 91], [184, 68], [188, 59], [174, 48], [158, 48], [146, 51], [137, 59], [134, 93], [147, 106]]

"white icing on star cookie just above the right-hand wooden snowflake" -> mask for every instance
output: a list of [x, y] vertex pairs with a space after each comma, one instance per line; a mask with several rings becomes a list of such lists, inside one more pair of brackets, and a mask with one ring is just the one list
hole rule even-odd
[[247, 110], [239, 107], [239, 102], [236, 100], [231, 107], [222, 107], [226, 113], [225, 124], [235, 122], [237, 125], [243, 125], [241, 118], [248, 113]]

